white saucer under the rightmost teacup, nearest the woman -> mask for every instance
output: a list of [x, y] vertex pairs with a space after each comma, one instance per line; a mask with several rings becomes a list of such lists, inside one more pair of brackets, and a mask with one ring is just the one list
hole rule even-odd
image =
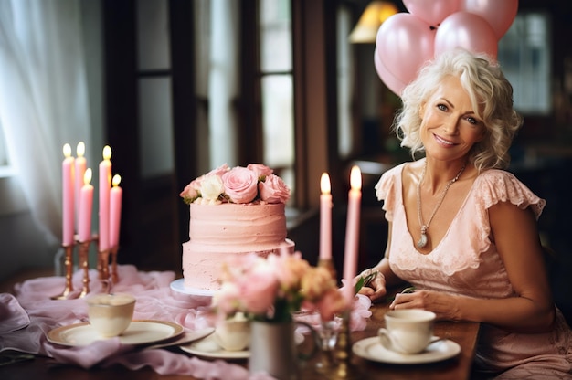
[[429, 347], [419, 354], [398, 354], [387, 350], [379, 342], [379, 338], [373, 336], [354, 343], [354, 354], [364, 359], [388, 364], [425, 364], [440, 362], [450, 359], [461, 353], [461, 346], [450, 340], [439, 341], [429, 344]]

